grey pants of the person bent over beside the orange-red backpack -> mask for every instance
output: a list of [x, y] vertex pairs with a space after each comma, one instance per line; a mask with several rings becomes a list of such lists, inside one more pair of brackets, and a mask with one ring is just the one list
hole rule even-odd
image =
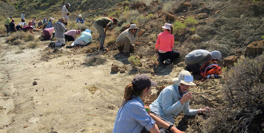
[[190, 56], [185, 58], [185, 63], [187, 65], [187, 68], [191, 70], [192, 73], [199, 72], [202, 65], [204, 65], [205, 62], [211, 61], [212, 55], [211, 53], [203, 53], [196, 56]]

